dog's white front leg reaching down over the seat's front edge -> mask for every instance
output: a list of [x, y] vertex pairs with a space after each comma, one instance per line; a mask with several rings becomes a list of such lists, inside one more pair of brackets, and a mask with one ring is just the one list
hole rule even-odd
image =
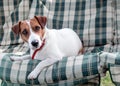
[[47, 58], [46, 60], [41, 61], [36, 68], [28, 75], [28, 79], [35, 79], [43, 68], [54, 64], [59, 61], [57, 58]]

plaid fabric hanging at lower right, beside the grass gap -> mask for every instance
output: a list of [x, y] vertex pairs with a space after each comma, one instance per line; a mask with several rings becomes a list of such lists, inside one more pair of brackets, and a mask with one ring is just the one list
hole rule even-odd
[[111, 79], [116, 86], [120, 85], [120, 53], [103, 52], [100, 55], [101, 65], [105, 65], [110, 72]]

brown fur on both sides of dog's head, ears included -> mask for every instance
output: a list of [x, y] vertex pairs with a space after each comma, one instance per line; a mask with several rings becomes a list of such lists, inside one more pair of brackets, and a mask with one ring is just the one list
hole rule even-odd
[[[35, 16], [34, 18], [30, 19], [29, 22], [32, 31], [38, 34], [42, 39], [45, 33], [44, 28], [47, 22], [47, 18], [44, 16]], [[20, 21], [17, 24], [13, 25], [12, 30], [16, 35], [20, 34], [23, 41], [28, 42], [31, 28], [26, 21]]]

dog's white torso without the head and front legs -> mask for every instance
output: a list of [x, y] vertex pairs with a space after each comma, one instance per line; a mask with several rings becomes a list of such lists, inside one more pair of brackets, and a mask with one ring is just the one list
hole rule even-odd
[[44, 60], [49, 57], [57, 57], [60, 60], [62, 57], [78, 55], [82, 48], [78, 36], [71, 29], [49, 30], [45, 28], [45, 32], [45, 45], [39, 52], [40, 58], [35, 59]]

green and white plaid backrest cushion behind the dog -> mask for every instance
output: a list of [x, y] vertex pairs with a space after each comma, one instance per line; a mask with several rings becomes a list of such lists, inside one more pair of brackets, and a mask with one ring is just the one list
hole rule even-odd
[[[10, 0], [0, 1], [0, 44], [16, 44], [11, 26], [34, 15], [47, 16], [48, 28], [71, 28], [85, 47], [111, 44], [111, 0]], [[7, 42], [6, 42], [7, 41]]]

